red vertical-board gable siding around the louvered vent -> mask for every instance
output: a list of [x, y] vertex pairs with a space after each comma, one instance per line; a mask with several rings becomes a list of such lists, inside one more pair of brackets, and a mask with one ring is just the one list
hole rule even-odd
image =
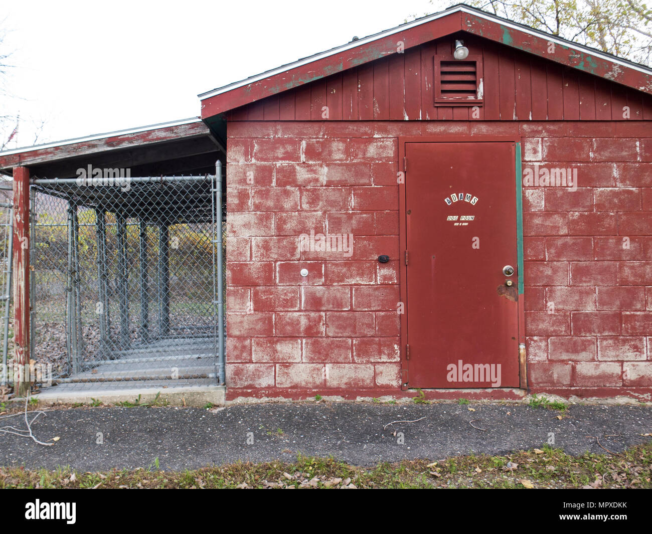
[[508, 46], [475, 35], [464, 44], [471, 57], [480, 59], [482, 102], [436, 103], [434, 61], [452, 60], [451, 44], [450, 37], [432, 40], [333, 74], [310, 84], [309, 91], [290, 89], [226, 115], [229, 121], [321, 121], [327, 105], [329, 121], [652, 120], [650, 95], [553, 61], [514, 54]]

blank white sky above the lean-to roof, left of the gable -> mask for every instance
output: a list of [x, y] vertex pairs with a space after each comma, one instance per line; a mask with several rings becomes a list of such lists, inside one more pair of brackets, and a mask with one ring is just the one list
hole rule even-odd
[[[437, 2], [437, 5], [455, 1]], [[8, 148], [185, 119], [198, 93], [441, 9], [428, 0], [0, 0]], [[13, 125], [0, 130], [8, 136]]]

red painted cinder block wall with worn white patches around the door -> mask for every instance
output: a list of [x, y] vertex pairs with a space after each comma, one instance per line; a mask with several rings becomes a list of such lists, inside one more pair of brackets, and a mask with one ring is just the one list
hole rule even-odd
[[[400, 393], [398, 136], [419, 135], [512, 136], [524, 168], [577, 169], [574, 191], [523, 190], [529, 387], [649, 394], [649, 123], [233, 121], [229, 396]], [[311, 231], [352, 233], [350, 256], [300, 251]]]

